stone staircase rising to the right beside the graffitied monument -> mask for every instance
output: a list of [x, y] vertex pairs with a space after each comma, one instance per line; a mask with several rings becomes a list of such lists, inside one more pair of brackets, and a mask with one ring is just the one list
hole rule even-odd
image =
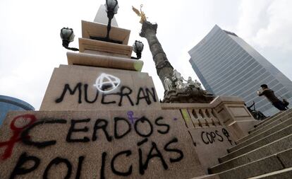
[[199, 178], [292, 178], [292, 109], [255, 125]]

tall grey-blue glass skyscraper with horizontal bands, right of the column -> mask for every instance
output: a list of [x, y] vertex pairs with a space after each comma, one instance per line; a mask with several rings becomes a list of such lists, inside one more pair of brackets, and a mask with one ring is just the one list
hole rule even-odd
[[247, 105], [272, 115], [278, 110], [257, 96], [266, 83], [278, 98], [292, 102], [292, 82], [235, 33], [218, 25], [189, 52], [190, 64], [206, 90], [217, 96], [239, 96]]

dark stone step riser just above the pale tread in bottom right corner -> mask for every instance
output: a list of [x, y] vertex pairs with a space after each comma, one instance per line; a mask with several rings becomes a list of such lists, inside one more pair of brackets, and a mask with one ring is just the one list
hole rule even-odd
[[290, 149], [279, 154], [253, 161], [243, 166], [232, 168], [229, 171], [218, 173], [218, 175], [220, 178], [224, 179], [244, 179], [263, 175], [264, 173], [280, 171], [284, 168], [290, 168], [292, 166], [291, 156], [292, 154]]

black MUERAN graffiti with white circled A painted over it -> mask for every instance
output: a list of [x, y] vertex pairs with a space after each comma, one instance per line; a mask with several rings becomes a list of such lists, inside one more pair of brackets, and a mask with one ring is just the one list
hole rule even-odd
[[[157, 103], [155, 88], [150, 86], [127, 86], [130, 79], [119, 79], [112, 74], [102, 73], [90, 82], [77, 81], [65, 83], [57, 96], [55, 103], [102, 104], [115, 106], [152, 105]], [[145, 83], [147, 84], [147, 83]]]

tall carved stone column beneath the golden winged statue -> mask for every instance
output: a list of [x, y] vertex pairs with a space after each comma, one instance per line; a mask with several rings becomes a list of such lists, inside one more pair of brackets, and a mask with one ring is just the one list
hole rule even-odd
[[[171, 66], [169, 60], [166, 57], [162, 49], [162, 45], [160, 45], [159, 40], [156, 37], [157, 24], [150, 23], [148, 21], [144, 21], [142, 23], [142, 30], [140, 32], [141, 37], [145, 37], [148, 41], [148, 45], [150, 47], [150, 51], [152, 53], [152, 57], [155, 63], [155, 67], [157, 70], [157, 74], [162, 81], [164, 86], [164, 77], [171, 79], [171, 76], [174, 72], [174, 67]], [[164, 86], [165, 89], [165, 86]]]

